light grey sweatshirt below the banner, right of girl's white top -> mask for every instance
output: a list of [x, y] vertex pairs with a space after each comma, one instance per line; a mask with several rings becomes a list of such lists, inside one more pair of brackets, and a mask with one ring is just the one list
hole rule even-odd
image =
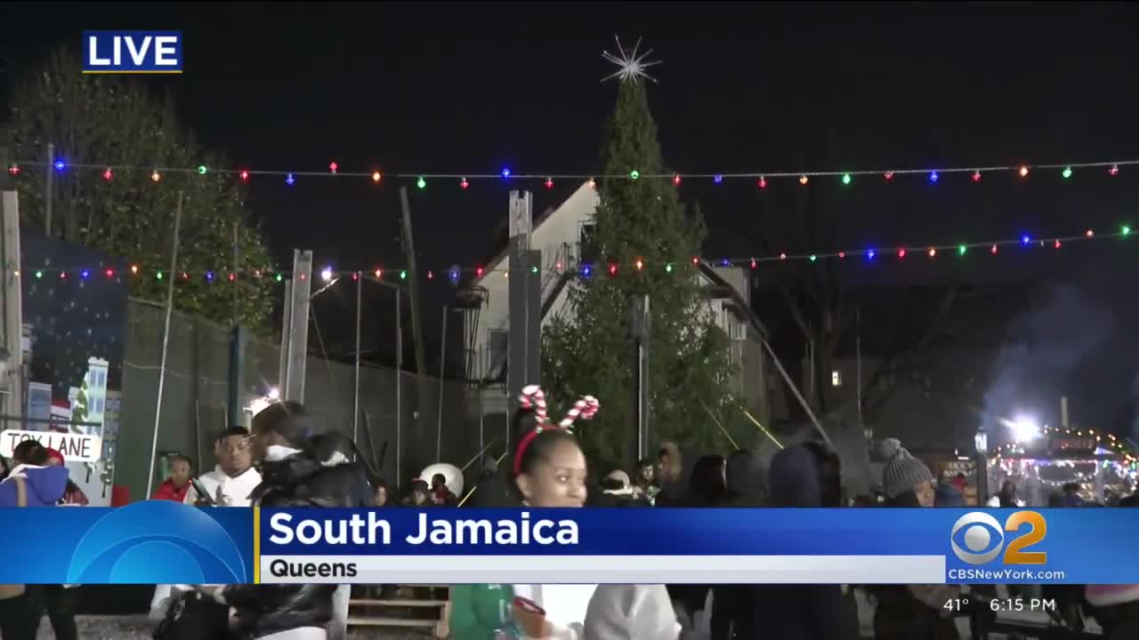
[[681, 631], [663, 584], [599, 584], [584, 627], [584, 640], [677, 640]]

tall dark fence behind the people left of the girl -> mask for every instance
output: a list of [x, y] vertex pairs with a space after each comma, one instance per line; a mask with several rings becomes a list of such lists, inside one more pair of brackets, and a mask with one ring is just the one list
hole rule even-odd
[[[129, 487], [131, 500], [146, 498], [164, 314], [162, 305], [145, 301], [131, 300], [128, 306], [115, 483]], [[228, 327], [172, 314], [158, 422], [159, 456], [182, 453], [192, 457], [200, 470], [213, 467], [214, 436], [228, 426], [230, 343]], [[251, 338], [244, 359], [243, 405], [276, 386], [279, 344]], [[501, 445], [494, 451], [489, 432], [487, 440], [481, 441], [478, 393], [465, 383], [419, 380], [413, 374], [361, 364], [360, 412], [353, 422], [353, 364], [310, 355], [305, 374], [305, 407], [325, 429], [354, 436], [361, 452], [392, 484], [404, 486], [436, 461], [461, 467], [484, 445], [490, 445], [491, 453], [501, 453]], [[474, 463], [468, 471], [477, 474], [477, 467]]]

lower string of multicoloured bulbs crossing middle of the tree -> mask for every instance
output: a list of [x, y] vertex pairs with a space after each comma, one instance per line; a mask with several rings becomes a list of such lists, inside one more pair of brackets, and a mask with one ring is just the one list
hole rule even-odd
[[[1031, 236], [1024, 235], [1017, 239], [1001, 239], [1001, 240], [986, 240], [983, 243], [965, 243], [958, 245], [933, 245], [933, 246], [908, 246], [908, 247], [886, 247], [886, 248], [862, 248], [862, 249], [851, 249], [851, 251], [838, 251], [838, 252], [819, 252], [819, 253], [808, 253], [808, 254], [786, 254], [780, 253], [778, 255], [768, 256], [755, 256], [746, 259], [720, 259], [720, 260], [708, 260], [706, 257], [694, 256], [688, 260], [681, 260], [678, 262], [664, 262], [661, 264], [649, 264], [647, 261], [637, 259], [632, 263], [623, 264], [618, 262], [555, 262], [552, 269], [540, 269], [538, 266], [532, 266], [530, 272], [532, 274], [540, 274], [542, 272], [556, 272], [556, 273], [576, 273], [582, 278], [592, 277], [598, 268], [603, 269], [604, 273], [611, 277], [616, 277], [620, 273], [632, 272], [645, 272], [652, 269], [663, 269], [666, 273], [674, 272], [681, 265], [690, 265], [697, 268], [700, 264], [707, 264], [711, 266], [720, 268], [749, 268], [759, 269], [761, 264], [772, 263], [772, 262], [794, 262], [794, 261], [806, 261], [806, 262], [818, 262], [820, 260], [837, 260], [839, 262], [849, 262], [850, 260], [861, 259], [862, 261], [875, 261], [882, 256], [883, 260], [887, 257], [893, 257], [898, 261], [904, 261], [908, 256], [915, 257], [926, 257], [928, 260], [935, 260], [941, 256], [956, 256], [965, 257], [973, 249], [982, 249], [985, 254], [997, 255], [1000, 253], [1002, 247], [1018, 247], [1024, 251], [1031, 251], [1033, 248], [1048, 248], [1051, 251], [1060, 249], [1066, 244], [1071, 243], [1087, 243], [1091, 240], [1107, 240], [1107, 239], [1122, 239], [1128, 238], [1132, 235], [1130, 225], [1123, 225], [1118, 231], [1111, 233], [1097, 233], [1092, 229], [1085, 230], [1083, 233], [1076, 236], [1064, 236], [1064, 237], [1048, 237], [1046, 239], [1036, 239]], [[87, 280], [91, 278], [92, 274], [103, 272], [107, 278], [114, 278], [121, 276], [113, 268], [101, 268], [101, 269], [59, 269], [59, 268], [35, 268], [25, 269], [25, 271], [31, 271], [34, 278], [41, 279], [46, 276], [52, 276], [60, 280], [67, 280], [73, 276], [79, 276], [81, 280]], [[146, 276], [153, 274], [158, 280], [164, 279], [169, 272], [163, 269], [148, 269], [140, 264], [131, 264], [125, 273], [131, 276]], [[196, 273], [191, 276], [188, 271], [180, 271], [177, 277], [181, 280], [191, 280], [195, 277], [202, 277], [206, 281], [213, 282], [215, 280], [229, 280], [231, 282], [237, 281], [240, 278], [271, 278], [278, 282], [284, 281], [285, 278], [289, 277], [292, 272], [280, 271], [274, 269], [257, 269], [253, 271], [229, 271], [226, 269], [211, 270], [204, 273]], [[484, 278], [493, 273], [501, 273], [503, 277], [509, 276], [509, 269], [495, 268], [486, 269], [482, 265], [475, 268], [448, 268], [442, 270], [427, 270], [426, 278], [428, 280], [445, 280], [451, 284], [458, 284], [464, 276], [474, 276], [475, 278]], [[19, 271], [15, 271], [16, 276], [19, 276]], [[337, 278], [351, 278], [352, 280], [359, 279], [361, 276], [369, 276], [376, 279], [383, 279], [384, 277], [398, 277], [400, 280], [407, 280], [409, 271], [407, 268], [396, 269], [385, 269], [377, 266], [375, 269], [364, 270], [335, 270], [331, 266], [325, 266], [320, 272], [319, 277], [321, 280], [329, 282]]]

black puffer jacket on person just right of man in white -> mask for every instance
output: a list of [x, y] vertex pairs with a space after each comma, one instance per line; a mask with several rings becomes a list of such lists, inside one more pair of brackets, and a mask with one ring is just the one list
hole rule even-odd
[[[368, 471], [343, 453], [325, 459], [301, 452], [265, 462], [262, 484], [253, 492], [255, 507], [374, 507]], [[333, 620], [335, 584], [235, 584], [226, 601], [237, 609], [238, 633], [261, 638], [290, 629], [323, 627]]]

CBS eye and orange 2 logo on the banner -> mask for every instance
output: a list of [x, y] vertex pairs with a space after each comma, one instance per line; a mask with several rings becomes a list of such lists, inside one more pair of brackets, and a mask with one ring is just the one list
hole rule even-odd
[[[1006, 543], [1005, 532], [1018, 532], [1024, 525], [1029, 530]], [[984, 565], [997, 559], [1003, 549], [1006, 565], [1043, 565], [1048, 561], [1044, 551], [1027, 551], [1039, 544], [1048, 534], [1048, 523], [1036, 511], [1016, 511], [1001, 526], [997, 518], [983, 511], [965, 514], [953, 524], [949, 543], [953, 555], [970, 565]]]

